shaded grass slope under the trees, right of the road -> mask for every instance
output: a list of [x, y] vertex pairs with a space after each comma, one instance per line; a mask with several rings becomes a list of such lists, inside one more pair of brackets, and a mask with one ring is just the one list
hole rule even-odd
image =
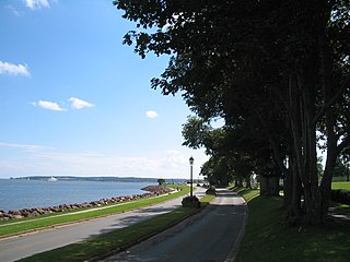
[[235, 262], [348, 262], [350, 223], [329, 219], [323, 227], [288, 227], [282, 198], [248, 198], [248, 219]]

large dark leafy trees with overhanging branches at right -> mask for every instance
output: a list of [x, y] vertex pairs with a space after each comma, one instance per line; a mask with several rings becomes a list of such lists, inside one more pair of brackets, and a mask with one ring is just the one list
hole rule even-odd
[[[215, 179], [223, 183], [231, 170], [283, 177], [290, 221], [322, 223], [337, 158], [349, 155], [349, 2], [114, 4], [137, 24], [125, 44], [143, 58], [150, 51], [171, 56], [151, 85], [164, 95], [179, 92], [197, 115], [184, 135], [186, 145], [205, 146], [211, 156], [202, 171], [222, 174]], [[218, 117], [225, 124], [213, 130], [208, 122]], [[318, 145], [327, 154], [320, 182]]]

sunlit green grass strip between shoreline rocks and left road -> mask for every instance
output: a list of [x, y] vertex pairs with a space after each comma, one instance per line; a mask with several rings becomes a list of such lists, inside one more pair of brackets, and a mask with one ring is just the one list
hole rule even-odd
[[[35, 230], [45, 227], [51, 227], [59, 224], [72, 223], [83, 219], [90, 219], [98, 216], [106, 216], [115, 213], [120, 213], [125, 211], [130, 211], [139, 209], [142, 206], [152, 205], [163, 201], [167, 201], [189, 192], [188, 187], [183, 187], [183, 190], [172, 194], [164, 194], [158, 198], [148, 198], [130, 202], [125, 202], [122, 204], [110, 205], [108, 209], [96, 209], [86, 213], [67, 213], [65, 216], [60, 216], [62, 213], [57, 213], [50, 216], [37, 216], [28, 219], [13, 219], [0, 223], [0, 236], [9, 236], [13, 234], [19, 234], [23, 231]], [[18, 222], [21, 222], [18, 224]], [[22, 223], [23, 222], [23, 223]]]

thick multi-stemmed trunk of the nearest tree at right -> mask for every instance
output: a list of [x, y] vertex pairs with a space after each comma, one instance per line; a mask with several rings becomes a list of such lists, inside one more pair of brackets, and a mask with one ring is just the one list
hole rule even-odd
[[320, 194], [317, 178], [316, 127], [315, 117], [315, 57], [311, 57], [307, 67], [299, 74], [291, 74], [289, 82], [289, 112], [293, 154], [295, 160], [293, 178], [292, 214], [299, 214], [299, 182], [304, 192], [305, 219], [307, 223], [320, 222]]

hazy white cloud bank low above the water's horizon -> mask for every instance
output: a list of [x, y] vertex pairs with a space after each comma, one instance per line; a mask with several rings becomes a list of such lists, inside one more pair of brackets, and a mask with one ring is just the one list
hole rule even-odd
[[[119, 176], [119, 177], [154, 177], [188, 178], [188, 155], [172, 150], [158, 157], [120, 156], [104, 153], [60, 152], [57, 148], [34, 145], [1, 143], [5, 152], [19, 151], [18, 157], [0, 159], [0, 177], [28, 175], [74, 175], [74, 176]], [[194, 174], [207, 159], [195, 156]]]

